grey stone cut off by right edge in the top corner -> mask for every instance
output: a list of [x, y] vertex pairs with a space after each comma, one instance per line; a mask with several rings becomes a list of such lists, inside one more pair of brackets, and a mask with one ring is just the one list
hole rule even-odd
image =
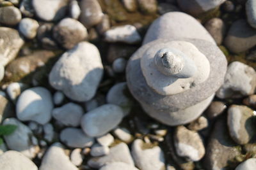
[[246, 2], [246, 15], [248, 23], [256, 28], [256, 2], [253, 0], [249, 0]]

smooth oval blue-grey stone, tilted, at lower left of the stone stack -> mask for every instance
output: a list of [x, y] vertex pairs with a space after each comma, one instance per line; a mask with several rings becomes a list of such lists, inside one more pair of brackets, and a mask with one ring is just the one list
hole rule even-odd
[[81, 119], [81, 127], [88, 136], [102, 136], [114, 129], [123, 117], [119, 106], [104, 104], [86, 113]]

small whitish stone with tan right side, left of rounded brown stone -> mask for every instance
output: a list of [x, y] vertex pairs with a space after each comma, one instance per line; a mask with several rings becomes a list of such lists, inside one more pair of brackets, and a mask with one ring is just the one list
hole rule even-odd
[[23, 18], [19, 24], [19, 31], [26, 38], [33, 39], [36, 37], [38, 27], [39, 24], [36, 20], [31, 18]]

